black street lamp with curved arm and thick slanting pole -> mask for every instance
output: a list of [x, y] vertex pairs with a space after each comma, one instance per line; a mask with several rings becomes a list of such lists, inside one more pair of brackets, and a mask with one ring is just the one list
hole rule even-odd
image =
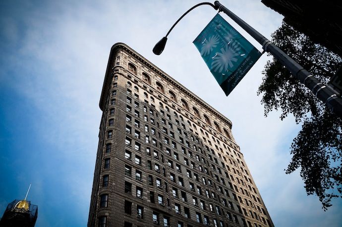
[[300, 64], [298, 64], [291, 57], [286, 55], [281, 49], [279, 49], [274, 43], [269, 41], [263, 35], [261, 35], [258, 31], [252, 28], [249, 24], [244, 22], [241, 18], [232, 13], [228, 8], [226, 8], [219, 1], [215, 1], [214, 4], [210, 2], [199, 3], [188, 11], [186, 11], [171, 27], [169, 32], [165, 37], [163, 37], [153, 48], [153, 53], [156, 55], [162, 54], [166, 42], [168, 40], [167, 36], [170, 34], [173, 27], [181, 20], [188, 12], [197, 6], [207, 4], [211, 5], [215, 10], [219, 10], [219, 12], [226, 13], [233, 21], [235, 21], [240, 27], [242, 27], [249, 35], [251, 35], [256, 41], [258, 41], [265, 52], [272, 54], [277, 60], [279, 60], [290, 72], [291, 74], [297, 78], [302, 84], [304, 84], [307, 88], [309, 88], [312, 93], [316, 95], [318, 99], [324, 102], [331, 111], [342, 118], [342, 98], [339, 97], [340, 94], [335, 92], [331, 87], [327, 84], [323, 84], [316, 77], [311, 75], [306, 69], [304, 69]]

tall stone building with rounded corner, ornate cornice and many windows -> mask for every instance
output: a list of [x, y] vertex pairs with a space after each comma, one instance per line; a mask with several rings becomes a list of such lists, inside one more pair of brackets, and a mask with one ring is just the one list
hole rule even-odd
[[112, 47], [89, 227], [273, 227], [231, 121], [127, 45]]

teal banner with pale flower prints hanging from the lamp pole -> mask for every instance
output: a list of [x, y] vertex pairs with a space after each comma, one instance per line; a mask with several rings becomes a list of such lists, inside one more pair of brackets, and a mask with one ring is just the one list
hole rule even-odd
[[217, 14], [193, 42], [226, 96], [261, 53]]

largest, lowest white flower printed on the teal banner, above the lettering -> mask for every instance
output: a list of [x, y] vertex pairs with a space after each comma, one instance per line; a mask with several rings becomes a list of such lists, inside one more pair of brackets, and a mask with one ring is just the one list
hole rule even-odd
[[216, 53], [211, 64], [212, 69], [215, 72], [227, 72], [228, 67], [232, 68], [234, 66], [233, 62], [238, 60], [240, 57], [241, 47], [236, 42], [231, 42], [226, 45], [225, 48], [221, 48], [221, 53]]

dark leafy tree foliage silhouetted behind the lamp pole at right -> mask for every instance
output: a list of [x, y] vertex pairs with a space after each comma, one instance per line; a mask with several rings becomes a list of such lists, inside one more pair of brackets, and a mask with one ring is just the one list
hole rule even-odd
[[[285, 22], [272, 34], [272, 41], [324, 83], [342, 62], [341, 57]], [[277, 59], [267, 62], [263, 75], [258, 95], [262, 95], [265, 115], [278, 110], [282, 120], [292, 114], [296, 123], [302, 124], [291, 144], [292, 160], [285, 172], [299, 169], [307, 194], [316, 194], [327, 210], [332, 198], [342, 198], [342, 119], [330, 114]]]

